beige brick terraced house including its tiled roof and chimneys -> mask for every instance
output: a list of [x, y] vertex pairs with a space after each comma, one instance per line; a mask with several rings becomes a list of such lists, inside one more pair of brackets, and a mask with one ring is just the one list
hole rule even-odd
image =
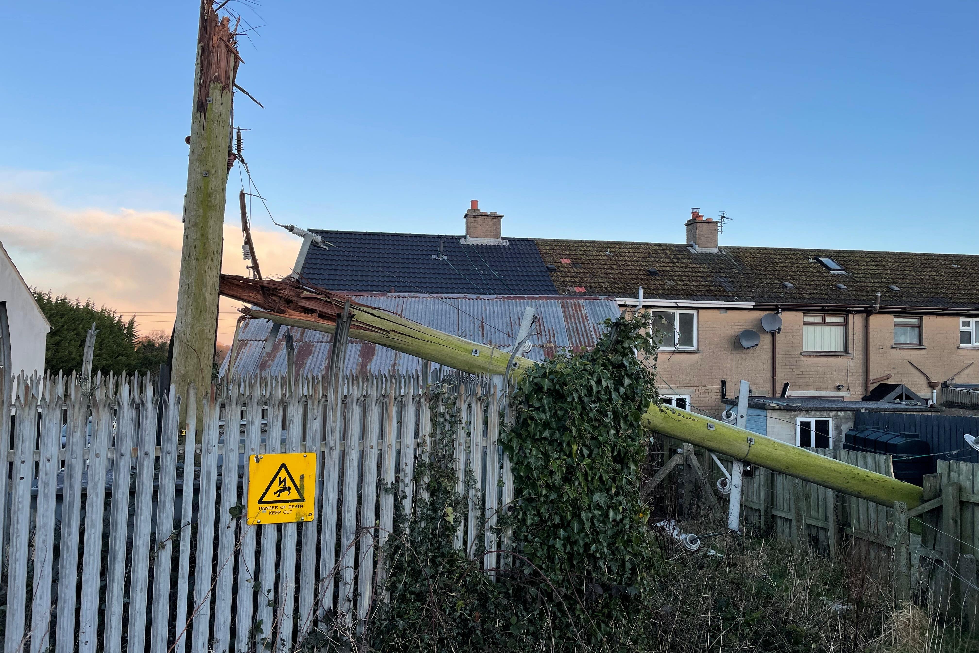
[[641, 305], [666, 331], [667, 400], [708, 414], [740, 379], [753, 396], [788, 384], [789, 397], [839, 400], [881, 383], [926, 399], [953, 377], [979, 383], [979, 256], [725, 247], [696, 209], [680, 244], [503, 238], [503, 216], [475, 201], [464, 217], [463, 235], [316, 230], [332, 247], [311, 249], [302, 275], [341, 292]]

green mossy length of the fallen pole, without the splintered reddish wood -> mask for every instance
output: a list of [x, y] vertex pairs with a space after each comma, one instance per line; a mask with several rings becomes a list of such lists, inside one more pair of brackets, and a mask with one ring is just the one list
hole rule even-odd
[[[333, 333], [335, 329], [333, 324], [325, 321], [285, 317], [251, 309], [244, 312], [303, 329], [327, 333]], [[358, 305], [351, 308], [351, 313], [350, 338], [419, 356], [462, 372], [501, 374], [509, 359], [510, 354], [505, 351], [445, 334], [385, 310]], [[514, 377], [523, 375], [525, 369], [535, 364], [523, 356], [515, 356], [514, 362]], [[921, 489], [917, 486], [686, 410], [653, 404], [642, 416], [642, 424], [650, 431], [675, 438], [681, 443], [693, 443], [887, 507], [893, 507], [895, 501], [904, 501], [909, 508], [922, 502]]]

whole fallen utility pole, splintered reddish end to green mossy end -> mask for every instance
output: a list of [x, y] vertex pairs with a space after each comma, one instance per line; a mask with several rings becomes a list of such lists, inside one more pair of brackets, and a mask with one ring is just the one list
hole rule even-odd
[[[257, 308], [242, 308], [250, 317], [303, 329], [333, 333], [343, 314], [345, 295], [290, 281], [257, 281], [221, 275], [221, 295]], [[350, 302], [350, 338], [409, 353], [470, 374], [502, 374], [509, 352], [445, 334], [396, 313]], [[519, 377], [535, 364], [514, 356], [512, 374]], [[686, 410], [651, 404], [642, 425], [683, 443], [693, 443], [736, 460], [810, 481], [824, 488], [893, 507], [904, 501], [909, 508], [922, 502], [921, 489], [855, 465], [821, 456], [794, 444], [772, 440], [720, 420]]]

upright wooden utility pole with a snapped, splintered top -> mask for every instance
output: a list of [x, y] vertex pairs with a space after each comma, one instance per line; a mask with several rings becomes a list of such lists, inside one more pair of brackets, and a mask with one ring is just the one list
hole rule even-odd
[[[217, 337], [217, 284], [221, 273], [224, 190], [231, 146], [231, 103], [241, 59], [227, 17], [201, 2], [191, 111], [187, 195], [177, 312], [173, 325], [172, 379], [187, 396], [191, 383], [210, 386]], [[202, 400], [204, 394], [201, 394]], [[187, 408], [181, 405], [181, 421]], [[198, 411], [198, 414], [203, 414]]]

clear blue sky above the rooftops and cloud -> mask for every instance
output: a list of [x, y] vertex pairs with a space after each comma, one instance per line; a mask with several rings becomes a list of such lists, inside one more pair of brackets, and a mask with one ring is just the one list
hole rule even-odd
[[[264, 24], [237, 121], [280, 221], [457, 233], [478, 199], [504, 235], [679, 242], [699, 207], [728, 245], [979, 251], [975, 2], [228, 7]], [[179, 214], [196, 3], [4, 14], [2, 190]]]

